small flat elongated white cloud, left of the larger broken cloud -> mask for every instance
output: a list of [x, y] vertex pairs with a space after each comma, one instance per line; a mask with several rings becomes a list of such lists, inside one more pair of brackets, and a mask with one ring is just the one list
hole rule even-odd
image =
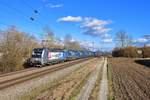
[[58, 22], [81, 22], [82, 17], [73, 17], [73, 16], [67, 16], [67, 17], [62, 17], [57, 20]]

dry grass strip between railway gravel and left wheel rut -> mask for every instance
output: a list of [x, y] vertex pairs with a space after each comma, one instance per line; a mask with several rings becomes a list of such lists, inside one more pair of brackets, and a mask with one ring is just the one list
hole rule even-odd
[[39, 98], [46, 99], [63, 99], [72, 100], [79, 93], [82, 84], [85, 83], [87, 77], [90, 75], [94, 67], [93, 62], [82, 67], [81, 69], [74, 71], [68, 77], [60, 80], [57, 84], [49, 88], [48, 92], [39, 96]]

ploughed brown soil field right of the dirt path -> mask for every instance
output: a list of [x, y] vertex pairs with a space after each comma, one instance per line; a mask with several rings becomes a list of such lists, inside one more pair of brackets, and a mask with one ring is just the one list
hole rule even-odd
[[110, 58], [109, 65], [117, 100], [150, 100], [150, 68], [129, 58]]

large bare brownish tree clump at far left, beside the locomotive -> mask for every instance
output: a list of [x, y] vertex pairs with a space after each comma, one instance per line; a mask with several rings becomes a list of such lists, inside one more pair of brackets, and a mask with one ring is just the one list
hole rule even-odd
[[29, 57], [32, 48], [38, 43], [28, 34], [10, 27], [0, 32], [1, 60], [0, 71], [10, 72], [23, 68], [24, 59]]

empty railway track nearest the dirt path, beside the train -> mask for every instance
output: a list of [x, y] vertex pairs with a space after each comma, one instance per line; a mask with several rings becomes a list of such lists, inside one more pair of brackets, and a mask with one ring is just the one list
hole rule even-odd
[[[90, 58], [85, 58], [85, 59], [79, 59], [79, 60], [75, 60], [75, 61], [71, 61], [71, 62], [66, 62], [66, 63], [63, 63], [63, 64], [54, 65], [54, 67], [46, 68], [44, 70], [38, 70], [38, 71], [28, 73], [28, 74], [24, 74], [24, 75], [15, 77], [15, 78], [1, 80], [0, 81], [0, 90], [5, 89], [5, 88], [10, 87], [10, 86], [15, 85], [15, 84], [19, 84], [19, 83], [22, 83], [22, 82], [25, 82], [25, 81], [28, 81], [28, 80], [31, 80], [31, 79], [34, 79], [34, 78], [52, 73], [52, 72], [55, 72], [55, 71], [60, 70], [60, 69], [67, 68], [69, 66], [81, 63], [81, 62], [86, 61], [88, 59], [90, 59]], [[4, 77], [2, 77], [2, 78], [4, 78]]]

